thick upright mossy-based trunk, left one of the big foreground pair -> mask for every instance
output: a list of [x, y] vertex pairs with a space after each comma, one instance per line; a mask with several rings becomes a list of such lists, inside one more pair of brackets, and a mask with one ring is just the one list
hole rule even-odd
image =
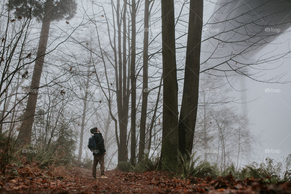
[[162, 0], [163, 130], [159, 169], [178, 170], [178, 83], [174, 0]]

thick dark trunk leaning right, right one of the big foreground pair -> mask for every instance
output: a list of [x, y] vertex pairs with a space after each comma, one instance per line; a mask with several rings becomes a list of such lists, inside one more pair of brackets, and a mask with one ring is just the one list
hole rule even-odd
[[184, 87], [179, 118], [179, 150], [192, 153], [199, 94], [203, 0], [190, 0]]

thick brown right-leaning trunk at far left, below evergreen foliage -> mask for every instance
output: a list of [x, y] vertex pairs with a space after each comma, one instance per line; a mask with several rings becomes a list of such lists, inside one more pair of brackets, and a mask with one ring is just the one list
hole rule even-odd
[[19, 136], [18, 139], [23, 144], [30, 143], [31, 142], [31, 131], [32, 131], [32, 125], [34, 121], [34, 115], [35, 115], [35, 108], [36, 108], [36, 102], [37, 102], [37, 96], [38, 96], [38, 88], [39, 88], [39, 82], [42, 75], [42, 66], [44, 63], [45, 53], [46, 53], [46, 47], [49, 39], [49, 26], [50, 26], [50, 18], [51, 18], [51, 9], [53, 6], [53, 1], [48, 0], [45, 2], [45, 12], [44, 12], [44, 18], [42, 21], [42, 30], [40, 33], [39, 43], [38, 43], [38, 50], [36, 54], [36, 60], [35, 65], [33, 69], [32, 74], [32, 81], [30, 85], [30, 89], [34, 90], [34, 92], [30, 93], [28, 95], [28, 101], [24, 113], [24, 121], [20, 127], [19, 130]]

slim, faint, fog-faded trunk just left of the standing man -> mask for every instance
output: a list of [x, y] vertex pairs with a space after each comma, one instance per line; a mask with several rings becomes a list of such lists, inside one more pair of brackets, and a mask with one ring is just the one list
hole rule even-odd
[[83, 148], [83, 136], [84, 136], [84, 127], [85, 127], [85, 118], [86, 118], [86, 109], [87, 109], [87, 98], [88, 98], [88, 88], [89, 88], [89, 77], [90, 77], [90, 67], [88, 69], [87, 81], [86, 81], [86, 90], [84, 96], [84, 106], [83, 106], [83, 114], [82, 114], [82, 123], [81, 123], [81, 132], [80, 132], [80, 145], [79, 145], [79, 153], [78, 153], [78, 164], [81, 162], [82, 157], [82, 148]]

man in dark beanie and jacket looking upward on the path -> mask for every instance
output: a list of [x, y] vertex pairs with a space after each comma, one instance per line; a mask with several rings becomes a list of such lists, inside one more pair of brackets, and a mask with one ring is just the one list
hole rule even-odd
[[100, 164], [100, 175], [101, 179], [108, 179], [104, 175], [105, 165], [104, 165], [104, 155], [106, 154], [105, 146], [104, 146], [104, 139], [102, 137], [101, 132], [97, 127], [94, 127], [90, 129], [90, 132], [94, 135], [94, 139], [97, 145], [97, 149], [93, 150], [93, 166], [92, 166], [92, 178], [96, 179], [96, 167], [98, 165], [98, 162]]

